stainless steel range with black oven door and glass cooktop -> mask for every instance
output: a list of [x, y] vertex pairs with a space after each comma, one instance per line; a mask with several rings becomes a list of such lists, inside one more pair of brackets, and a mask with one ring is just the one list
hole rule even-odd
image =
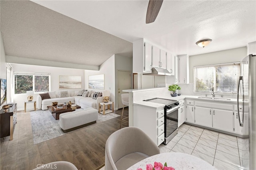
[[178, 109], [179, 103], [175, 100], [153, 98], [144, 100], [153, 103], [164, 104], [164, 144], [168, 142], [178, 133]]

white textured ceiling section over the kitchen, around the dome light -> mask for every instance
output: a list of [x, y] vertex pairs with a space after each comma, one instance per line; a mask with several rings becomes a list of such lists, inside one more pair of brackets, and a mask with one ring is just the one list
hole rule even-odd
[[[148, 0], [33, 0], [130, 42], [145, 38], [177, 55], [245, 47], [256, 41], [256, 0], [164, 0], [146, 24]], [[205, 48], [196, 41], [212, 39]]]

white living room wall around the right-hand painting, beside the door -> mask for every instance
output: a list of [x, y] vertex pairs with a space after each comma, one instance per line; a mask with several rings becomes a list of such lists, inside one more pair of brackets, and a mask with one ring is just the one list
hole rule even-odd
[[[93, 90], [95, 92], [102, 92], [104, 90], [89, 89], [88, 78], [91, 75], [104, 74], [104, 90], [110, 91], [110, 101], [114, 102], [115, 99], [115, 55], [110, 57], [107, 61], [100, 65], [100, 70], [84, 70], [85, 85], [84, 89]], [[115, 104], [115, 102], [114, 102]]]

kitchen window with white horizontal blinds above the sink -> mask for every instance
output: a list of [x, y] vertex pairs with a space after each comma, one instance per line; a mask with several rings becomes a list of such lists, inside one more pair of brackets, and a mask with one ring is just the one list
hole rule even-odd
[[240, 63], [194, 67], [194, 92], [237, 93]]

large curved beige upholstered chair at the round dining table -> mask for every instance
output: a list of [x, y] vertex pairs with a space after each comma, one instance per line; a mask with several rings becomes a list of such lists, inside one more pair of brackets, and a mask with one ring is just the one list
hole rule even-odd
[[106, 141], [105, 169], [126, 170], [149, 156], [159, 154], [158, 146], [138, 127], [124, 127]]

